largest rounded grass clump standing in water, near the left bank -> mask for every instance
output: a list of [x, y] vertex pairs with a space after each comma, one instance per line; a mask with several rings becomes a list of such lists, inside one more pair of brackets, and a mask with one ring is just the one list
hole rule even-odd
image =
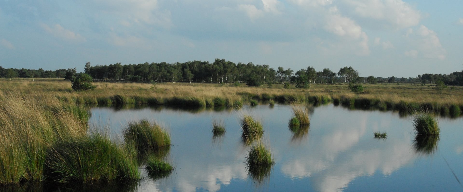
[[146, 120], [129, 123], [123, 135], [125, 142], [135, 145], [138, 150], [170, 145], [169, 133], [156, 123], [150, 124]]

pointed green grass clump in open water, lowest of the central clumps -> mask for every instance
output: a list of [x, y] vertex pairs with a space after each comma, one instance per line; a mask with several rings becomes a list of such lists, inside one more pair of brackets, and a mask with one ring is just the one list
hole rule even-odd
[[272, 158], [270, 150], [267, 149], [262, 143], [253, 145], [248, 151], [246, 162], [250, 166], [255, 165], [272, 165], [275, 161]]

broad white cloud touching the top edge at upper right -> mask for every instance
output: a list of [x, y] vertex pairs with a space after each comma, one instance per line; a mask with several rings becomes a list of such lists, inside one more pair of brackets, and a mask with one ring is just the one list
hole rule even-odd
[[421, 14], [402, 0], [344, 0], [348, 10], [359, 17], [385, 22], [391, 28], [407, 28], [418, 25]]

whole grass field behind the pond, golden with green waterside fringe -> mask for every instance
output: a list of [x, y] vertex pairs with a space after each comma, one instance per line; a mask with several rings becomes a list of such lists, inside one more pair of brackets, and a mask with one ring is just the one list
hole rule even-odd
[[[421, 84], [376, 84], [364, 85], [363, 93], [352, 93], [347, 85], [312, 85], [312, 88], [297, 89], [291, 85], [283, 89], [282, 84], [272, 88], [236, 87], [232, 84], [210, 83], [126, 83], [94, 82], [94, 91], [75, 92], [71, 83], [62, 79], [0, 79], [0, 89], [14, 90], [27, 95], [34, 93], [38, 99], [56, 97], [62, 102], [77, 104], [150, 104], [182, 106], [241, 106], [251, 100], [280, 103], [327, 103], [334, 102], [358, 108], [428, 110], [444, 113], [463, 110], [463, 87], [434, 90], [434, 85]], [[218, 102], [221, 101], [221, 102]], [[224, 102], [225, 101], [225, 102]], [[459, 110], [450, 110], [457, 106]]]

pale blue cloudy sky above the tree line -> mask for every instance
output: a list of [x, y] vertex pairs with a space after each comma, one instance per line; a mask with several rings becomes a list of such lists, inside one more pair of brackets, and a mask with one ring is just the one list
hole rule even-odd
[[213, 62], [463, 70], [462, 0], [0, 0], [0, 66]]

